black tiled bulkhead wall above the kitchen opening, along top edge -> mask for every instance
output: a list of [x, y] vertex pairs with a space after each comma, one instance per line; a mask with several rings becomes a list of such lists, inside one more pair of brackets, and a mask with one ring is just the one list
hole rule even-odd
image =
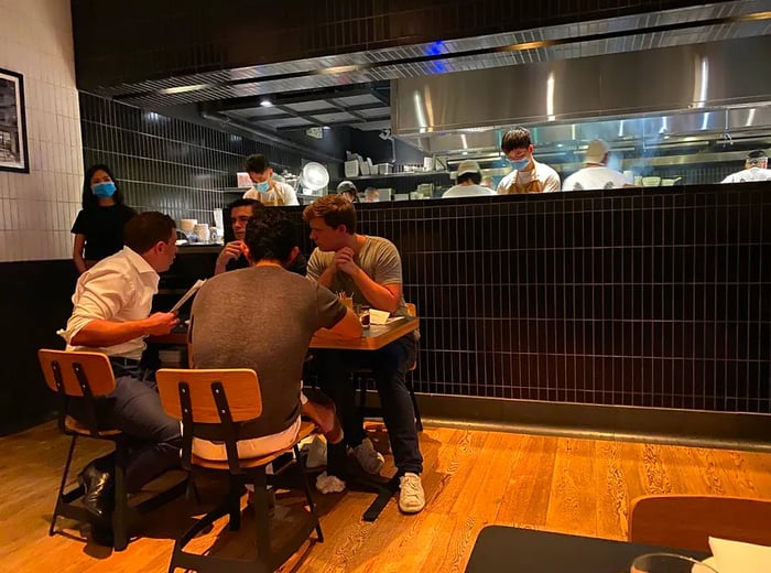
[[[585, 22], [694, 0], [73, 0], [80, 89]], [[110, 41], [94, 30], [110, 22]], [[265, 25], [265, 23], [269, 23]]]

